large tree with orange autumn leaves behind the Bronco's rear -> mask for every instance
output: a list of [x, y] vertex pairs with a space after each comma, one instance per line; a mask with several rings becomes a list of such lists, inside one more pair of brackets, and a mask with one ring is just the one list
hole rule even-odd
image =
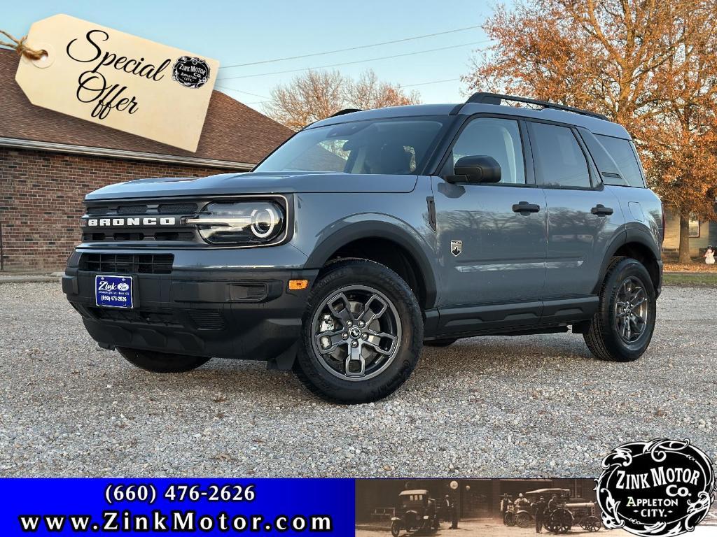
[[[683, 216], [686, 236], [690, 212], [716, 218], [708, 199], [717, 185], [717, 168], [708, 166], [716, 7], [716, 0], [524, 0], [511, 11], [499, 7], [483, 28], [494, 44], [463, 80], [469, 89], [587, 108], [625, 125], [648, 183]], [[689, 258], [686, 238], [680, 258]]]

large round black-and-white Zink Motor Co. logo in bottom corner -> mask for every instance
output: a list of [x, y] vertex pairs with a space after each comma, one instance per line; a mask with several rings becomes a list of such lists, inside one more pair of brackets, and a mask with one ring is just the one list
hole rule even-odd
[[602, 468], [595, 490], [606, 528], [678, 536], [693, 531], [714, 500], [712, 461], [689, 440], [627, 443]]

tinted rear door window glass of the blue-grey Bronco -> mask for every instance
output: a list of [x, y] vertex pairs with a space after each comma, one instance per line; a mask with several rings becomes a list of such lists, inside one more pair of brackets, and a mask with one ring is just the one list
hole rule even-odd
[[530, 123], [538, 184], [590, 188], [585, 154], [568, 127]]

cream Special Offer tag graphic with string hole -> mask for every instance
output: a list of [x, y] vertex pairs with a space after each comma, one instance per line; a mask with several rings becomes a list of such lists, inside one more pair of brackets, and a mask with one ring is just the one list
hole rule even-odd
[[15, 79], [33, 105], [196, 151], [219, 62], [60, 14], [37, 21]]

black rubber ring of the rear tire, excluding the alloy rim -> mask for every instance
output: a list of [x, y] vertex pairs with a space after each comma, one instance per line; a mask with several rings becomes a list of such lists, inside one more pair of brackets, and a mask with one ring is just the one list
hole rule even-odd
[[[634, 343], [625, 342], [617, 333], [614, 325], [614, 307], [617, 300], [617, 292], [619, 286], [628, 277], [637, 277], [642, 283], [645, 294], [647, 295], [648, 312], [647, 327], [640, 339]], [[650, 345], [652, 334], [655, 332], [657, 297], [655, 295], [655, 287], [652, 285], [650, 274], [639, 261], [632, 258], [625, 258], [618, 261], [609, 272], [607, 280], [600, 297], [600, 323], [602, 324], [603, 342], [605, 347], [612, 356], [621, 362], [632, 362], [642, 356]]]

